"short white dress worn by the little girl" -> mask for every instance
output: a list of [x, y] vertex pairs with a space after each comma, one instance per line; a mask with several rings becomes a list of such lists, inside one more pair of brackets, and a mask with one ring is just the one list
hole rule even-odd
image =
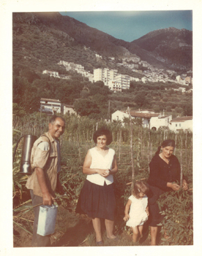
[[132, 201], [130, 204], [130, 219], [127, 220], [126, 225], [129, 227], [136, 227], [139, 225], [143, 225], [148, 219], [146, 213], [146, 206], [148, 205], [148, 197], [145, 195], [144, 197], [137, 199], [134, 195], [131, 195], [128, 199]]

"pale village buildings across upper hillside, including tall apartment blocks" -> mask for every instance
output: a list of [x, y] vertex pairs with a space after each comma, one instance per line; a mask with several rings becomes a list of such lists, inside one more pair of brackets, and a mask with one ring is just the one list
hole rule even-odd
[[[102, 58], [102, 56], [95, 54], [96, 58]], [[114, 58], [111, 58], [111, 61], [114, 61]], [[58, 63], [61, 66], [64, 66], [66, 70], [76, 71], [80, 73], [83, 77], [87, 77], [90, 82], [97, 82], [102, 81], [104, 82], [105, 86], [108, 86], [111, 91], [123, 91], [123, 89], [130, 89], [130, 82], [174, 82], [176, 84], [182, 86], [188, 86], [189, 84], [193, 83], [192, 77], [189, 76], [192, 73], [191, 70], [187, 72], [187, 74], [177, 75], [173, 70], [166, 70], [154, 68], [152, 65], [147, 63], [146, 61], [141, 61], [137, 57], [130, 57], [122, 59], [122, 63], [118, 63], [117, 66], [124, 66], [125, 68], [130, 68], [132, 71], [136, 73], [140, 73], [143, 77], [137, 78], [132, 77], [130, 75], [123, 75], [118, 73], [116, 69], [109, 69], [109, 68], [96, 68], [93, 70], [93, 74], [90, 71], [86, 71], [84, 66], [81, 66], [77, 63], [72, 63], [68, 61], [59, 61]], [[147, 70], [139, 69], [139, 66], [143, 68], [147, 68]], [[69, 79], [68, 76], [59, 75], [58, 72], [44, 70], [43, 74], [48, 74], [50, 76], [58, 77], [61, 79]], [[173, 79], [175, 77], [175, 79]], [[184, 87], [179, 87], [178, 89], [172, 88], [174, 91], [182, 91], [185, 92]], [[188, 91], [191, 92], [192, 89]]]

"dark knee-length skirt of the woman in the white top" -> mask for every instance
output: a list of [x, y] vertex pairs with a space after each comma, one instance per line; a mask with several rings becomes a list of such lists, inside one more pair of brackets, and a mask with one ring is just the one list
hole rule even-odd
[[116, 199], [114, 184], [96, 185], [86, 180], [77, 202], [76, 213], [87, 214], [90, 218], [114, 220]]

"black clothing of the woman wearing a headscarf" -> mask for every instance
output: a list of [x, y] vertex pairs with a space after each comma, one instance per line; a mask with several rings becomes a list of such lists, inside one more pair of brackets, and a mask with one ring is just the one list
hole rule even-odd
[[148, 225], [156, 227], [164, 218], [160, 214], [157, 199], [166, 191], [172, 190], [166, 186], [167, 182], [178, 181], [180, 183], [180, 163], [176, 156], [171, 155], [169, 164], [167, 164], [157, 154], [150, 161], [149, 167], [148, 185], [150, 186], [150, 195], [148, 195], [148, 206], [150, 215]]

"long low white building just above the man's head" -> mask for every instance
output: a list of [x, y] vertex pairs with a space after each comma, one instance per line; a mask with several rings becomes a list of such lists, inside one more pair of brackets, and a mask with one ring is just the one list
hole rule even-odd
[[41, 112], [47, 112], [47, 114], [61, 113], [61, 101], [51, 98], [40, 99]]

